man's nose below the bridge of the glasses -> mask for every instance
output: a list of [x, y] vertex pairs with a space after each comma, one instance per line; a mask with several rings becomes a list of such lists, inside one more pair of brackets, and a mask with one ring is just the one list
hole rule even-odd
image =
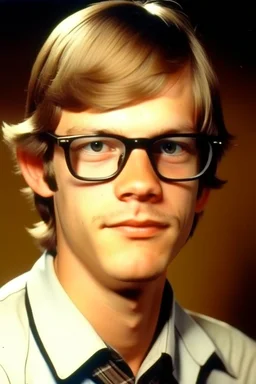
[[114, 180], [114, 189], [121, 201], [161, 201], [162, 186], [145, 150], [135, 149], [131, 152], [124, 169]]

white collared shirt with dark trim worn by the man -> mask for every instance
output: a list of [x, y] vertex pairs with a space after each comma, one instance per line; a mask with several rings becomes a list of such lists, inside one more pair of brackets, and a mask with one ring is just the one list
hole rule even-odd
[[[106, 344], [62, 288], [54, 271], [52, 256], [44, 254], [30, 272], [0, 290], [0, 383], [56, 384], [49, 363], [42, 357], [29, 326], [25, 307], [26, 287], [35, 328], [59, 379], [71, 377], [96, 352], [106, 349]], [[204, 317], [198, 317], [198, 321], [173, 300], [170, 316], [142, 363], [136, 382], [162, 353], [167, 353], [172, 358], [173, 373], [178, 383], [196, 384], [201, 367], [213, 353], [217, 353], [225, 370], [214, 370], [207, 383], [255, 384], [256, 344], [223, 323]], [[204, 325], [205, 329], [209, 325], [209, 332], [203, 329]], [[243, 346], [246, 345], [248, 362], [240, 358], [239, 369], [236, 360], [229, 359], [228, 353], [225, 352], [226, 356], [218, 348], [215, 331], [211, 334], [212, 329], [219, 328], [218, 333], [224, 329], [226, 333], [235, 334], [237, 345], [242, 342]], [[240, 381], [239, 375], [247, 381]], [[250, 381], [252, 377], [255, 381]], [[89, 383], [93, 382], [85, 379], [81, 384]]]

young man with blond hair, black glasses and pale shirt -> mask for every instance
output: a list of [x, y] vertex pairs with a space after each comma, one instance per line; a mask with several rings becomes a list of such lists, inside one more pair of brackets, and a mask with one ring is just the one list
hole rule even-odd
[[70, 16], [3, 132], [44, 253], [0, 291], [0, 383], [255, 384], [255, 343], [166, 281], [230, 140], [186, 18], [126, 0]]

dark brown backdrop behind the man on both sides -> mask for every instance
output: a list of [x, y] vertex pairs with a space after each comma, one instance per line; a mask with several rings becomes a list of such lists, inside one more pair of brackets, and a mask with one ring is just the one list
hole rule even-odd
[[[207, 3], [207, 4], [205, 4]], [[223, 2], [221, 2], [223, 5]], [[184, 1], [215, 65], [227, 126], [236, 136], [194, 237], [169, 270], [186, 307], [225, 320], [256, 339], [256, 73], [252, 6]], [[22, 119], [29, 71], [57, 21], [85, 1], [0, 1], [0, 121]], [[0, 143], [0, 285], [39, 257], [25, 231], [37, 220], [19, 193], [10, 154]]]

